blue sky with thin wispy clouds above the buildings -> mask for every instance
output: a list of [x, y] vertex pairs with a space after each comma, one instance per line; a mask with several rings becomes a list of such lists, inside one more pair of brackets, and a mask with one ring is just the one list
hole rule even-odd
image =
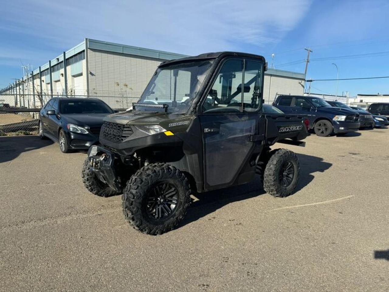
[[[0, 18], [0, 88], [82, 42], [85, 37], [187, 55], [244, 51], [265, 56], [269, 67], [307, 78], [389, 76], [383, 56], [314, 61], [315, 58], [389, 52], [389, 1], [7, 1]], [[291, 63], [294, 61], [300, 61]], [[283, 65], [291, 63], [290, 65]], [[335, 94], [336, 82], [316, 81], [312, 92]], [[338, 94], [389, 94], [389, 79], [340, 81]]]

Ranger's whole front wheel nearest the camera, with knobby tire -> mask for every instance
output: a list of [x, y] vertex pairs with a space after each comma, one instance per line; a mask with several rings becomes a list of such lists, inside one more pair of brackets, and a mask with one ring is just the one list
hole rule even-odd
[[191, 189], [177, 168], [154, 163], [139, 169], [122, 195], [123, 214], [140, 232], [157, 235], [174, 229], [184, 218]]

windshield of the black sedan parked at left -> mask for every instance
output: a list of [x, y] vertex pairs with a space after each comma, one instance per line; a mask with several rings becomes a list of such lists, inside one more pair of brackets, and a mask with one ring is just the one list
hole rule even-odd
[[112, 114], [114, 111], [98, 100], [61, 100], [61, 114]]

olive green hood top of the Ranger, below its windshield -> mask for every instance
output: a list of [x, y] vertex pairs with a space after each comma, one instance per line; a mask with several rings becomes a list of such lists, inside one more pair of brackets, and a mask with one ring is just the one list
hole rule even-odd
[[174, 120], [179, 117], [184, 117], [184, 115], [155, 111], [149, 112], [130, 110], [121, 113], [110, 114], [104, 118], [104, 121], [121, 125], [158, 125], [163, 121]]

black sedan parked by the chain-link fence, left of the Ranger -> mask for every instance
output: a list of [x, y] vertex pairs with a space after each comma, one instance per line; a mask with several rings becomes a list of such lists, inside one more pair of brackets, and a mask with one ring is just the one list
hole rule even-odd
[[98, 142], [103, 118], [115, 113], [100, 99], [50, 99], [39, 113], [39, 135], [60, 144], [63, 153]]

